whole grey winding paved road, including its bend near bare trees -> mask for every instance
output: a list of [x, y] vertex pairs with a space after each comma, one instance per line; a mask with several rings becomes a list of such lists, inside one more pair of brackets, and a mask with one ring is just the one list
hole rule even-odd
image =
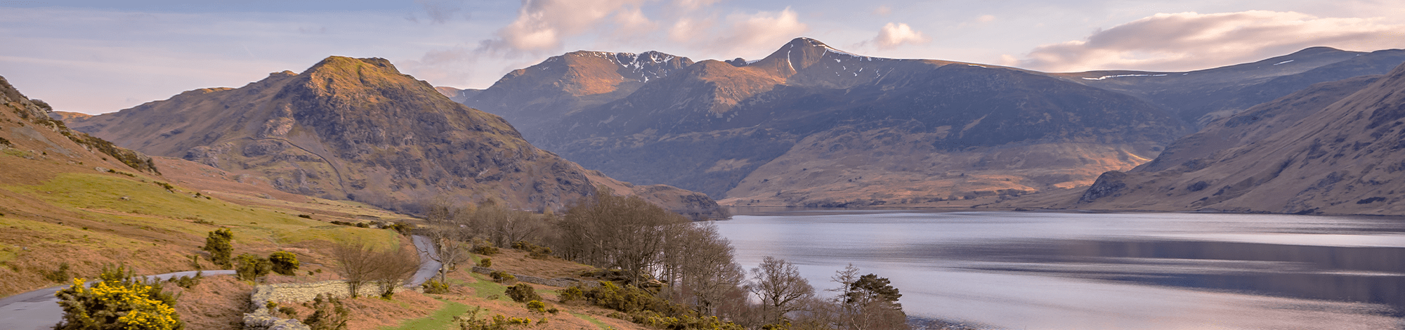
[[[440, 263], [434, 261], [438, 256], [434, 251], [434, 244], [430, 244], [430, 239], [424, 236], [412, 236], [416, 250], [420, 251], [420, 270], [414, 272], [414, 277], [405, 286], [419, 286], [429, 281], [438, 272]], [[205, 271], [205, 275], [233, 275], [235, 271]], [[170, 274], [150, 275], [150, 278], [159, 278], [166, 281], [171, 277], [194, 277], [194, 271], [178, 271]], [[97, 281], [90, 281], [91, 285]], [[67, 288], [67, 285], [58, 285], [37, 291], [30, 291], [13, 296], [6, 296], [0, 299], [0, 330], [48, 330], [53, 329], [53, 324], [63, 319], [63, 308], [59, 306], [59, 298], [53, 296], [59, 289]]]

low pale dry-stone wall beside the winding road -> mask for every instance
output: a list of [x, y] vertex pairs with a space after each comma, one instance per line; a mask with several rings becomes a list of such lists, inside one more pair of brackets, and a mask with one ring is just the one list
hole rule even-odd
[[[400, 291], [416, 291], [423, 292], [422, 288], [396, 288]], [[357, 289], [361, 296], [378, 296], [381, 295], [381, 286], [377, 282], [368, 282]], [[296, 319], [281, 319], [273, 316], [268, 310], [268, 302], [311, 302], [318, 295], [329, 295], [334, 298], [351, 296], [351, 288], [346, 281], [322, 281], [311, 284], [268, 284], [254, 286], [254, 293], [249, 295], [249, 302], [253, 303], [254, 312], [244, 313], [244, 329], [246, 330], [311, 330], [306, 324]]]

